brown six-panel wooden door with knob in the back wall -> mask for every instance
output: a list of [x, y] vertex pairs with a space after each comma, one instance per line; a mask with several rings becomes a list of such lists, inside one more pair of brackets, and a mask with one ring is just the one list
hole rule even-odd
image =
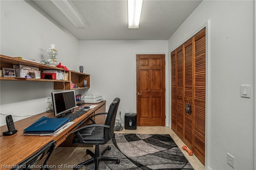
[[165, 126], [165, 55], [136, 55], [137, 125]]

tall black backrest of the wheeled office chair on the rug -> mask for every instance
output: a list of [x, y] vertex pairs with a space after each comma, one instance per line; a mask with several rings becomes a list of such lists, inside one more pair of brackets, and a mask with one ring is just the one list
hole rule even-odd
[[114, 134], [114, 127], [115, 127], [115, 121], [116, 121], [116, 113], [118, 110], [118, 106], [120, 103], [120, 99], [116, 97], [112, 103], [110, 104], [110, 107], [108, 109], [108, 115], [106, 117], [105, 125], [109, 125], [109, 139], [112, 138]]

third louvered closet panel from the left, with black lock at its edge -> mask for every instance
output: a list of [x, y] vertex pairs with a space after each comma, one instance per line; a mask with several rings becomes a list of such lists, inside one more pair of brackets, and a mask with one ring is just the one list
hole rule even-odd
[[189, 103], [191, 105], [191, 111], [190, 114], [186, 113], [184, 111], [184, 142], [187, 144], [189, 148], [192, 148], [192, 141], [193, 141], [193, 127], [194, 124], [192, 123], [192, 118], [194, 115], [193, 112], [193, 45], [192, 45], [192, 39], [188, 40], [186, 43], [184, 43], [184, 102]]

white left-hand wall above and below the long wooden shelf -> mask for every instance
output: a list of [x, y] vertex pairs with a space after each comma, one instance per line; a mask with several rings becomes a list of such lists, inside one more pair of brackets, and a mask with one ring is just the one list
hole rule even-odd
[[[49, 59], [46, 49], [50, 43], [59, 51], [57, 60], [68, 69], [79, 71], [78, 40], [52, 22], [30, 1], [0, 1], [0, 53], [11, 57], [22, 56], [41, 61]], [[52, 82], [1, 81], [0, 113], [12, 115], [14, 121], [46, 111], [46, 96], [53, 90]], [[5, 125], [0, 115], [0, 125]]]

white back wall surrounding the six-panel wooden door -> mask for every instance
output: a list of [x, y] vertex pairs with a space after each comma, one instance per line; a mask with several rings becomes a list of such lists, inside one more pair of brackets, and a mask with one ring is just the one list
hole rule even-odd
[[[106, 100], [106, 110], [113, 99], [119, 97], [121, 101], [118, 110], [122, 111], [123, 121], [125, 113], [136, 113], [136, 53], [164, 53], [168, 63], [167, 40], [80, 41], [79, 48], [79, 63], [84, 66], [84, 72], [91, 75], [91, 88], [87, 94], [102, 95]], [[168, 70], [167, 65], [166, 77]], [[167, 78], [166, 89], [168, 82]], [[168, 110], [166, 114], [168, 126]], [[117, 119], [120, 119], [119, 115]]]

